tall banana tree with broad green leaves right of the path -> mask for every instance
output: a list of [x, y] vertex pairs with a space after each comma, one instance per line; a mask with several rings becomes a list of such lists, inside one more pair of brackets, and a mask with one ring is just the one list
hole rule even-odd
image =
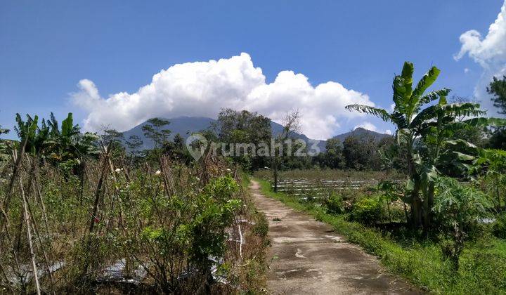
[[[411, 206], [410, 222], [416, 227], [424, 225], [427, 229], [432, 221], [434, 181], [440, 175], [437, 166], [443, 160], [442, 155], [458, 155], [457, 160], [469, 159], [464, 154], [455, 154], [452, 147], [457, 145], [459, 140], [455, 142], [448, 138], [458, 129], [501, 125], [505, 122], [501, 119], [478, 117], [485, 112], [480, 110], [476, 103], [448, 104], [446, 96], [450, 89], [425, 93], [441, 72], [437, 67], [432, 67], [424, 74], [414, 89], [413, 72], [413, 63], [406, 62], [401, 74], [394, 77], [393, 112], [369, 105], [347, 105], [346, 109], [372, 114], [396, 125], [397, 143], [408, 164], [409, 194], [404, 201]], [[439, 101], [422, 110], [422, 107], [434, 100]], [[473, 118], [457, 122], [458, 117]], [[425, 147], [424, 152], [421, 152], [420, 147]]]

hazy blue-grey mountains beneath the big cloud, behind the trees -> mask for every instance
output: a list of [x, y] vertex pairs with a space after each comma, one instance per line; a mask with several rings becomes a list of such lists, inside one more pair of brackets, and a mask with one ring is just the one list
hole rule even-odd
[[[203, 131], [208, 129], [213, 122], [216, 122], [215, 119], [207, 118], [207, 117], [177, 117], [172, 119], [167, 119], [170, 124], [167, 126], [167, 129], [171, 131], [171, 135], [169, 136], [169, 139], [173, 139], [174, 136], [176, 136], [177, 133], [179, 133], [183, 138], [188, 138], [192, 133]], [[143, 140], [143, 146], [141, 149], [150, 149], [153, 148], [153, 143], [148, 139], [145, 138], [144, 132], [142, 131], [142, 127], [147, 124], [147, 122], [143, 122], [134, 128], [130, 129], [129, 131], [124, 131], [124, 138], [125, 140], [128, 140], [130, 136], [138, 136]], [[283, 131], [283, 126], [272, 122], [271, 121], [271, 129], [274, 134], [279, 134], [281, 131]], [[339, 138], [339, 141], [341, 143], [344, 141], [344, 139], [348, 136], [373, 136], [375, 140], [379, 141], [382, 138], [389, 136], [388, 134], [382, 134], [377, 133], [375, 131], [370, 131], [367, 129], [363, 129], [361, 127], [358, 127], [357, 129], [346, 132], [343, 134], [339, 134], [338, 136], [335, 136], [334, 138]], [[310, 140], [306, 135], [301, 133], [296, 133], [295, 138], [300, 138], [306, 142]], [[318, 143], [318, 147], [320, 148], [320, 151], [325, 152], [325, 144], [326, 140], [320, 140]]]

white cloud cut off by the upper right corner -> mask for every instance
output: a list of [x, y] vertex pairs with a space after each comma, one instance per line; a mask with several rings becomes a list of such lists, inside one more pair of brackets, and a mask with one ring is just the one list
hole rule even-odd
[[460, 60], [466, 54], [483, 68], [481, 78], [474, 89], [474, 96], [481, 100], [482, 106], [488, 109], [489, 115], [494, 115], [497, 109], [493, 107], [490, 96], [486, 93], [486, 86], [492, 77], [502, 77], [506, 74], [506, 1], [495, 22], [488, 27], [485, 38], [475, 29], [460, 35], [462, 47], [454, 58]]

